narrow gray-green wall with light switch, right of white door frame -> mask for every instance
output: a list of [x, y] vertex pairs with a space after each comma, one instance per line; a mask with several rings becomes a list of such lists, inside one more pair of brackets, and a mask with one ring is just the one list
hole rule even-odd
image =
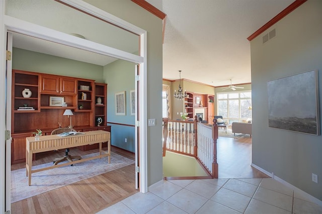
[[[156, 125], [147, 127], [147, 179], [151, 185], [162, 175], [162, 20], [131, 1], [86, 2], [147, 31], [147, 118]], [[109, 118], [108, 118], [109, 120]]]

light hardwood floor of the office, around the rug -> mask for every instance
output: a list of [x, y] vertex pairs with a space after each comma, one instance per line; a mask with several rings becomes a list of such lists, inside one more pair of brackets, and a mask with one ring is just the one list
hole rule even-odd
[[[134, 154], [116, 147], [112, 152], [130, 159]], [[81, 151], [70, 149], [71, 155], [85, 155], [98, 152], [98, 149]], [[33, 165], [51, 162], [64, 151], [40, 153]], [[24, 168], [25, 163], [12, 165], [12, 170]], [[71, 166], [72, 167], [72, 166]], [[12, 213], [96, 213], [134, 193], [135, 164], [131, 164], [104, 174], [72, 183], [11, 204]]]

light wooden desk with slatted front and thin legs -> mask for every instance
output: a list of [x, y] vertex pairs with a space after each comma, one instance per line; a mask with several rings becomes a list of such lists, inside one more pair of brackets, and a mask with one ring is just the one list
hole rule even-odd
[[[57, 135], [45, 135], [40, 136], [39, 140], [35, 140], [35, 137], [26, 138], [26, 176], [28, 176], [28, 184], [31, 185], [31, 174], [47, 169], [52, 169], [60, 166], [75, 164], [86, 160], [92, 160], [102, 157], [108, 157], [110, 163], [111, 155], [111, 133], [108, 131], [97, 130], [97, 131], [85, 131], [85, 134], [59, 137]], [[108, 142], [108, 151], [102, 151], [102, 142]], [[58, 149], [71, 148], [76, 146], [88, 145], [93, 143], [99, 143], [99, 155], [89, 157], [81, 160], [75, 160], [72, 162], [61, 163], [41, 169], [32, 170], [32, 155], [38, 152], [52, 151]]]

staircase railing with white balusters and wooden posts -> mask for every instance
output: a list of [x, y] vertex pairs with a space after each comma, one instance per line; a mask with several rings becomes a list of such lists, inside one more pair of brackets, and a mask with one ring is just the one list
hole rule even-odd
[[218, 178], [217, 163], [217, 120], [213, 124], [199, 123], [197, 116], [194, 121], [168, 120], [164, 118], [163, 155], [166, 150], [194, 156], [211, 174]]

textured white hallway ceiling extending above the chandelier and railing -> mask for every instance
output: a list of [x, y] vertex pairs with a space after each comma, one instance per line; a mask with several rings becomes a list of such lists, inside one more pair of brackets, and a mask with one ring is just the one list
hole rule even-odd
[[146, 0], [167, 14], [163, 78], [213, 86], [251, 82], [247, 40], [293, 0]]

